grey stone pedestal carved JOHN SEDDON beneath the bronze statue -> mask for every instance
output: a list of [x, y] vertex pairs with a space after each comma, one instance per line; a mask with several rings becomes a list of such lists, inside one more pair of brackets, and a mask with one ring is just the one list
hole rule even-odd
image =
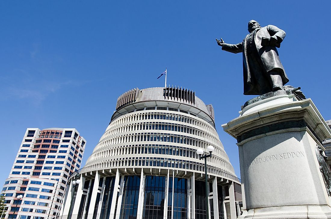
[[238, 141], [240, 218], [331, 218], [316, 156], [331, 130], [310, 99], [298, 101], [283, 91], [260, 96], [222, 127]]

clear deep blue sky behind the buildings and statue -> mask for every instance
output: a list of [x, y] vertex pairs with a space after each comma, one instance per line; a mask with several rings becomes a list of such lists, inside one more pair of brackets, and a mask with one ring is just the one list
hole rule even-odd
[[105, 131], [120, 94], [138, 87], [187, 87], [213, 104], [216, 128], [240, 177], [236, 140], [221, 124], [254, 96], [243, 95], [238, 43], [247, 23], [273, 24], [287, 36], [278, 50], [290, 79], [323, 117], [330, 114], [329, 1], [1, 1], [0, 181], [25, 129], [76, 128], [83, 162]]

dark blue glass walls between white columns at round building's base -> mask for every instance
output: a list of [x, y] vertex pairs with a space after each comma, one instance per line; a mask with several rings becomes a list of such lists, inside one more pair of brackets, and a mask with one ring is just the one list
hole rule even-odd
[[[178, 178], [169, 176], [144, 176], [144, 184], [141, 188], [143, 193], [139, 196], [140, 181], [139, 175], [125, 175], [120, 177], [118, 186], [115, 185], [115, 176], [101, 177], [93, 203], [93, 216], [96, 219], [185, 219], [188, 218], [190, 191], [188, 182], [192, 179]], [[88, 209], [92, 201], [92, 191], [94, 180], [86, 180], [83, 186], [83, 194], [79, 200], [79, 210], [77, 219], [88, 218]], [[205, 182], [195, 180], [194, 199], [195, 219], [206, 219], [206, 197]], [[122, 189], [120, 189], [122, 187]], [[114, 191], [119, 188], [117, 195]], [[225, 193], [223, 195], [223, 189]], [[224, 210], [227, 218], [231, 217], [229, 202], [224, 202], [224, 198], [229, 196], [229, 187], [217, 185], [217, 194], [213, 191], [213, 184], [209, 184], [209, 207], [211, 219], [224, 219]], [[74, 192], [75, 199], [77, 192]], [[119, 201], [119, 199], [121, 199]], [[115, 210], [111, 213], [112, 201], [116, 200], [120, 205], [115, 205]], [[165, 201], [167, 200], [167, 203]], [[78, 201], [78, 200], [76, 200]], [[142, 201], [141, 213], [139, 212], [139, 201]], [[73, 210], [73, 200], [70, 206], [70, 212]], [[214, 205], [215, 204], [215, 205]], [[118, 209], [117, 210], [117, 208]], [[214, 214], [214, 208], [217, 206], [218, 215]], [[225, 206], [225, 209], [224, 209]], [[167, 212], [165, 212], [165, 207]], [[99, 211], [98, 211], [99, 210]], [[193, 212], [192, 212], [193, 213]], [[217, 218], [218, 217], [218, 218]], [[71, 218], [71, 217], [68, 217]]]

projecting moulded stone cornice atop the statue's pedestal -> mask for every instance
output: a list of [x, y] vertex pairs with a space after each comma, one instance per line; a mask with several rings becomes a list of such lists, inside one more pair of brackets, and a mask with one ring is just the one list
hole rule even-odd
[[[279, 98], [284, 98], [284, 95]], [[330, 128], [311, 99], [302, 101], [294, 99], [288, 103], [277, 103], [275, 97], [272, 97], [272, 99], [272, 101], [267, 102], [264, 108], [261, 109], [256, 105], [257, 110], [254, 110], [253, 107], [250, 109], [250, 113], [223, 124], [224, 131], [236, 138], [238, 143], [255, 135], [305, 126], [309, 128], [320, 143], [326, 138], [331, 138]]]

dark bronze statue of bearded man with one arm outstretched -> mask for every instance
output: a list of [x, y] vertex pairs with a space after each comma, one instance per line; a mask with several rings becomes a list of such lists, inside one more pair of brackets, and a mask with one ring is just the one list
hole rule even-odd
[[261, 27], [257, 21], [248, 22], [249, 34], [238, 44], [216, 39], [222, 50], [243, 53], [244, 95], [262, 95], [284, 90], [289, 79], [280, 63], [276, 47], [285, 38], [285, 31], [274, 25]]

